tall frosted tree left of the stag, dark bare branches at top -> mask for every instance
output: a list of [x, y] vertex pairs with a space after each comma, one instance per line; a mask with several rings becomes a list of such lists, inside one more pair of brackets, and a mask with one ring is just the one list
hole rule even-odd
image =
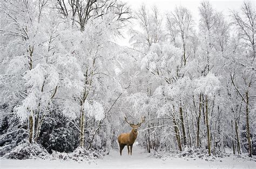
[[[72, 10], [64, 8], [69, 6]], [[105, 88], [109, 84], [104, 84], [104, 76], [111, 76], [110, 70], [106, 69], [107, 65], [112, 65], [111, 62], [116, 55], [111, 55], [108, 50], [113, 45], [109, 44], [109, 40], [116, 34], [120, 34], [120, 29], [125, 22], [131, 17], [129, 8], [117, 1], [57, 1], [57, 8], [61, 15], [65, 18], [71, 15], [72, 25], [78, 23], [79, 30], [73, 29], [72, 37], [69, 37], [69, 43], [66, 43], [66, 48], [72, 53], [73, 57], [78, 59], [80, 67], [83, 70], [83, 91], [79, 96], [79, 116], [80, 119], [80, 146], [84, 146], [84, 125], [87, 112], [95, 115], [97, 120], [104, 118], [102, 105], [96, 101], [90, 106], [89, 100], [97, 93], [97, 90]], [[72, 11], [70, 13], [70, 11]], [[75, 36], [76, 38], [74, 38]], [[108, 53], [106, 53], [106, 51]], [[111, 60], [112, 59], [112, 60]], [[109, 67], [110, 68], [110, 67]], [[113, 69], [116, 66], [112, 67]], [[112, 71], [112, 70], [111, 70]], [[105, 86], [104, 86], [105, 85]], [[77, 100], [74, 98], [73, 101]], [[95, 105], [94, 105], [95, 104]], [[77, 107], [78, 108], [78, 107]], [[92, 110], [89, 110], [92, 108]], [[98, 114], [96, 114], [95, 110]], [[86, 112], [85, 112], [86, 110]], [[91, 115], [93, 115], [91, 114]]]

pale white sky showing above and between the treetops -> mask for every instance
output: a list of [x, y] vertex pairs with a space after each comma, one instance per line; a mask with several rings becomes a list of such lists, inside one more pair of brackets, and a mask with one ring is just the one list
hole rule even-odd
[[[151, 8], [151, 6], [156, 5], [159, 11], [164, 15], [167, 12], [173, 11], [176, 6], [184, 6], [192, 12], [193, 19], [196, 22], [196, 25], [199, 22], [199, 10], [198, 6], [200, 5], [200, 0], [121, 0], [126, 2], [130, 8], [134, 11], [137, 10], [140, 5], [143, 3], [147, 8]], [[209, 0], [214, 9], [219, 12], [223, 12], [227, 17], [230, 15], [230, 10], [235, 9], [239, 10], [241, 8], [243, 0]], [[254, 1], [251, 1], [254, 5]], [[134, 25], [136, 27], [136, 25]], [[116, 40], [116, 43], [122, 46], [130, 46], [129, 45], [129, 35], [124, 33], [125, 38], [119, 38]]]

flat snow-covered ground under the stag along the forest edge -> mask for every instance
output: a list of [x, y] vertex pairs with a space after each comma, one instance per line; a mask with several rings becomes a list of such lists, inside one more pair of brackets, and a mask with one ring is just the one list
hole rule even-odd
[[132, 156], [128, 156], [127, 149], [123, 150], [123, 156], [121, 157], [117, 150], [113, 150], [104, 159], [98, 159], [91, 164], [87, 164], [85, 161], [79, 163], [64, 160], [1, 159], [0, 168], [256, 168], [256, 162], [234, 159], [234, 157], [215, 161], [183, 158], [163, 160], [151, 158], [141, 147], [133, 146]]

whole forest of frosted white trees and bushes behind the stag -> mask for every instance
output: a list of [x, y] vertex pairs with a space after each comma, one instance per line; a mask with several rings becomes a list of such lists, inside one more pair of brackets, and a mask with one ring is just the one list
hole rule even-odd
[[118, 0], [0, 6], [1, 159], [103, 158], [142, 119], [136, 142], [153, 157], [255, 159], [255, 2], [228, 17], [210, 1], [199, 16]]

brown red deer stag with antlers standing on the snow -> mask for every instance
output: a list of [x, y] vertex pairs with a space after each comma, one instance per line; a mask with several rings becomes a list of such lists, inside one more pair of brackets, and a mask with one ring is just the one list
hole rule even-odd
[[[126, 117], [124, 117], [124, 119], [127, 122]], [[140, 125], [142, 125], [142, 123], [144, 123], [144, 122], [145, 122], [145, 117], [142, 117], [142, 122], [140, 122], [138, 124], [132, 124], [132, 123], [127, 122], [132, 127], [132, 131], [130, 133], [122, 133], [118, 136], [118, 143], [119, 143], [119, 147], [120, 147], [120, 156], [122, 156], [122, 150], [124, 149], [124, 146], [126, 146], [126, 145], [127, 145], [127, 149], [128, 149], [128, 154], [130, 153], [129, 146], [131, 147], [131, 155], [132, 155], [132, 145], [137, 138], [137, 135], [138, 135], [137, 130], [140, 127]]]

